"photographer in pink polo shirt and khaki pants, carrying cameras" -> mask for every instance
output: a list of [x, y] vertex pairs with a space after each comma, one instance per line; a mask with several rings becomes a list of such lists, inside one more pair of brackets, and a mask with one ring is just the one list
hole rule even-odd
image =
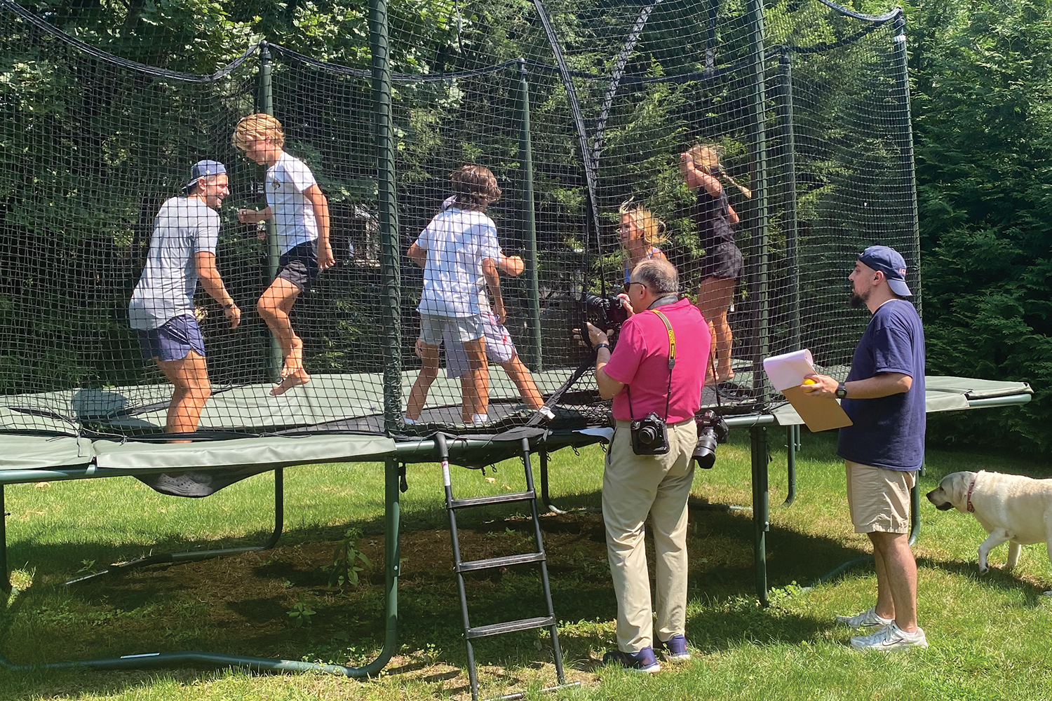
[[[694, 414], [711, 336], [702, 313], [679, 295], [668, 261], [635, 266], [625, 294], [631, 315], [611, 353], [608, 333], [588, 324], [596, 348], [595, 382], [613, 398], [618, 426], [603, 472], [603, 521], [618, 597], [618, 650], [604, 663], [658, 672], [654, 645], [665, 659], [690, 658], [684, 634], [687, 607], [687, 497], [694, 478]], [[671, 360], [671, 362], [670, 362]], [[656, 640], [644, 523], [650, 515], [658, 569]]]

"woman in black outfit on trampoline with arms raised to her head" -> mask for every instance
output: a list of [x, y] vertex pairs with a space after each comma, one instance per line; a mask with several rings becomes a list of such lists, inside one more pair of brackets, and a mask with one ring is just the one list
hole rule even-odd
[[739, 215], [730, 205], [720, 178], [736, 186], [747, 198], [752, 197], [752, 192], [724, 171], [714, 144], [695, 144], [683, 152], [680, 156], [680, 172], [696, 197], [693, 218], [702, 247], [705, 248], [697, 307], [712, 333], [715, 355], [712, 379], [723, 383], [734, 376], [731, 368], [733, 336], [727, 312], [745, 264], [742, 251], [734, 242], [734, 225], [740, 221]]

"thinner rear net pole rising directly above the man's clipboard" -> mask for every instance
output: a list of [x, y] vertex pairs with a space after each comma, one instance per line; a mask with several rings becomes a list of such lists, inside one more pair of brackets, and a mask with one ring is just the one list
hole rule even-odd
[[800, 329], [800, 241], [796, 222], [796, 130], [793, 126], [792, 54], [784, 51], [778, 59], [782, 77], [782, 193], [785, 198], [786, 263], [789, 268], [789, 349], [801, 347]]

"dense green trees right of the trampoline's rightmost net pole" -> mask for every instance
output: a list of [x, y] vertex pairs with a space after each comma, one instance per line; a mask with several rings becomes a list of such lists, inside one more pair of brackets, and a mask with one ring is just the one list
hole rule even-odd
[[1052, 3], [912, 8], [930, 373], [1032, 384], [931, 439], [1052, 449]]

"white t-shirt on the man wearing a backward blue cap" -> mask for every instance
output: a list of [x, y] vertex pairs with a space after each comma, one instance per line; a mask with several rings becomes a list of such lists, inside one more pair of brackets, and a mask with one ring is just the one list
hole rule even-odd
[[154, 219], [146, 267], [132, 293], [128, 316], [134, 329], [156, 329], [194, 313], [197, 265], [194, 254], [216, 254], [219, 214], [197, 198], [171, 198]]

